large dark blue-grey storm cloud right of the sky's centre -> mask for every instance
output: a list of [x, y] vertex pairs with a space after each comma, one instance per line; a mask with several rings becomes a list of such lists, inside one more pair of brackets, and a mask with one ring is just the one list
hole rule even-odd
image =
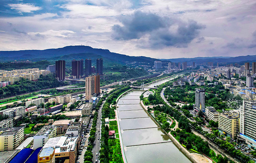
[[122, 16], [119, 21], [123, 26], [114, 25], [112, 37], [115, 40], [131, 40], [149, 35], [148, 41], [140, 41], [137, 45], [141, 48], [187, 47], [188, 43], [198, 37], [200, 29], [205, 28], [204, 25], [195, 21], [183, 22], [179, 19], [141, 11]]

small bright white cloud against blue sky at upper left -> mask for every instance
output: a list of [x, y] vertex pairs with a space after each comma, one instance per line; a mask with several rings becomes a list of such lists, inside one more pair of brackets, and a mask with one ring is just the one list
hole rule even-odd
[[8, 5], [11, 7], [11, 9], [18, 11], [19, 13], [32, 12], [32, 11], [43, 9], [41, 7], [34, 6], [33, 4], [30, 4], [30, 3], [8, 4]]

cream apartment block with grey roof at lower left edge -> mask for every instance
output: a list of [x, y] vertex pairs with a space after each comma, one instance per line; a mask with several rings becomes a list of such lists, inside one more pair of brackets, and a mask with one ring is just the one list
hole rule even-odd
[[0, 151], [17, 148], [24, 140], [24, 127], [0, 128]]

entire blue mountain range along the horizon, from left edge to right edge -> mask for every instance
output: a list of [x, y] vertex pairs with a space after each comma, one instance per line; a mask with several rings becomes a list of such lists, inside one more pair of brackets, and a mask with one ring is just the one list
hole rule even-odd
[[162, 62], [227, 62], [227, 63], [244, 63], [246, 61], [256, 61], [256, 55], [253, 56], [239, 56], [239, 57], [195, 57], [195, 58], [171, 58], [171, 59], [156, 59], [150, 57], [134, 57], [123, 54], [113, 53], [107, 49], [96, 49], [90, 46], [65, 46], [57, 49], [45, 50], [20, 50], [20, 51], [0, 51], [0, 61], [13, 61], [13, 60], [72, 60], [80, 58], [96, 59], [102, 57], [109, 62], [146, 62], [153, 63], [155, 60]]

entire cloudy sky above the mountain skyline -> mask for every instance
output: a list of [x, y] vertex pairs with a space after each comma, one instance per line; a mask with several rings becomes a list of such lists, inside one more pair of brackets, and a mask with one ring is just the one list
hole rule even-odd
[[0, 51], [81, 44], [154, 58], [256, 55], [256, 1], [0, 1]]

